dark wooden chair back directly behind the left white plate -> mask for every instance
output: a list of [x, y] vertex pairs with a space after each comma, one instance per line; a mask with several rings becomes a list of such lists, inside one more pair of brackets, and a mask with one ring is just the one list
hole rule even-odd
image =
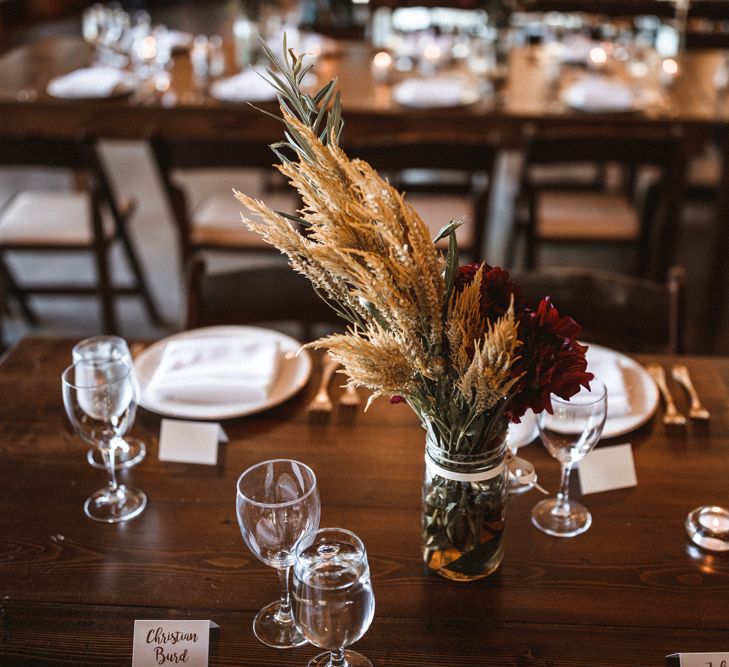
[[193, 256], [188, 270], [186, 328], [257, 322], [294, 322], [305, 341], [313, 339], [315, 325], [344, 327], [309, 280], [288, 265], [210, 274], [205, 260]]

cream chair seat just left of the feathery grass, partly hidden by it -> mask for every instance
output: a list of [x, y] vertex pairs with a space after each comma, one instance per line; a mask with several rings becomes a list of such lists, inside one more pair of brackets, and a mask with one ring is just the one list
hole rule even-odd
[[[266, 203], [278, 210], [290, 211], [291, 199], [282, 207], [267, 199]], [[216, 194], [205, 199], [192, 216], [190, 241], [199, 246], [231, 246], [274, 249], [258, 234], [250, 231], [241, 220], [242, 207], [233, 194]]]

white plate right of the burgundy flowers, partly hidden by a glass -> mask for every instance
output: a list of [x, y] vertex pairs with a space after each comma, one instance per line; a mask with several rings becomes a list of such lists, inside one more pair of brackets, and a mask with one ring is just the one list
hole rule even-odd
[[[643, 366], [629, 356], [601, 345], [586, 343], [587, 370], [590, 370], [590, 358], [595, 355], [613, 356], [623, 372], [625, 389], [628, 393], [630, 413], [620, 417], [609, 418], [602, 431], [603, 438], [616, 438], [630, 433], [645, 424], [658, 408], [658, 388]], [[608, 395], [608, 403], [610, 396]]]

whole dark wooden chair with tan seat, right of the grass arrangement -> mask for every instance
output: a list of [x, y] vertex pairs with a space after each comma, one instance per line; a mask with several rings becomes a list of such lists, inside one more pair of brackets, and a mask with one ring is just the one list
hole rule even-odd
[[[525, 265], [537, 266], [547, 243], [629, 244], [635, 272], [662, 278], [673, 256], [682, 200], [680, 137], [674, 132], [620, 127], [527, 129], [516, 206], [516, 236], [525, 239]], [[616, 164], [622, 182], [594, 189], [536, 181], [535, 167]], [[643, 175], [656, 174], [645, 186]]]

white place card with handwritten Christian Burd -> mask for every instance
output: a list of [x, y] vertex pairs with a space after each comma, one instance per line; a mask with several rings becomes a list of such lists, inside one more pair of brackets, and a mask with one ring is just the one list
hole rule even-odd
[[207, 667], [212, 621], [134, 621], [132, 667]]

